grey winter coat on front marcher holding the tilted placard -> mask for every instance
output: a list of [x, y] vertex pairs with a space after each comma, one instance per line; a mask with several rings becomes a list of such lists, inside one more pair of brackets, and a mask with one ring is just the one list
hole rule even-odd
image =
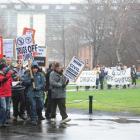
[[50, 89], [52, 92], [52, 99], [58, 99], [58, 98], [66, 98], [66, 78], [55, 72], [52, 71], [50, 73]]

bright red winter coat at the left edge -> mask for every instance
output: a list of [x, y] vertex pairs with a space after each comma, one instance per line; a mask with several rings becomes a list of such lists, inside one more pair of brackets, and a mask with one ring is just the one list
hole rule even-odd
[[6, 74], [0, 71], [0, 97], [11, 97], [12, 95], [12, 73]]

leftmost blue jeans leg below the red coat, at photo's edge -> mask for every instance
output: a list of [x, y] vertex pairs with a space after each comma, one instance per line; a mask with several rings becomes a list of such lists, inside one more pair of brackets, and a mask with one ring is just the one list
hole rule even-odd
[[0, 98], [0, 125], [5, 124], [7, 118], [6, 114], [6, 98]]

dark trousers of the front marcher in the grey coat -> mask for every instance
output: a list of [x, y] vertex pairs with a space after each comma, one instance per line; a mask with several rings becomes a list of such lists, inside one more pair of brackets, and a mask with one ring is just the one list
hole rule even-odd
[[66, 99], [60, 98], [60, 99], [52, 99], [52, 111], [51, 111], [51, 118], [56, 117], [56, 109], [57, 106], [59, 108], [60, 114], [62, 116], [62, 119], [65, 119], [68, 117], [66, 113]]

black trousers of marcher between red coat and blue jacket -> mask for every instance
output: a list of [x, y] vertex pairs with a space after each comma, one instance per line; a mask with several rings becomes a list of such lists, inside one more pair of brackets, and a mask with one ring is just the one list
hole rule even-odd
[[24, 92], [13, 93], [13, 116], [21, 116], [25, 113], [25, 96]]

